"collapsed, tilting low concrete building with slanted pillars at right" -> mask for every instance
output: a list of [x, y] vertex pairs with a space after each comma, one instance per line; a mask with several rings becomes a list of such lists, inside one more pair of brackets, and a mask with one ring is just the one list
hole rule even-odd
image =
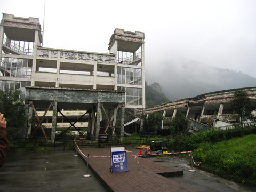
[[[256, 87], [243, 88], [251, 100], [249, 111], [255, 116], [256, 109]], [[229, 129], [234, 127], [238, 121], [238, 115], [229, 102], [234, 98], [234, 89], [215, 91], [198, 95], [194, 98], [180, 99], [163, 103], [146, 109], [146, 114], [158, 111], [164, 117], [174, 118], [177, 110], [186, 114], [190, 120], [190, 131], [204, 130], [207, 127]], [[254, 121], [245, 122], [246, 125], [255, 125]]]

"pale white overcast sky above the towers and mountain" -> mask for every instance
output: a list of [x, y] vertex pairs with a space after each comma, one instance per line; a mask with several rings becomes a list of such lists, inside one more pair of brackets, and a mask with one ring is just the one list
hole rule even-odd
[[[44, 0], [0, 5], [2, 13], [39, 18], [43, 28]], [[108, 53], [115, 28], [142, 31], [147, 71], [197, 62], [256, 78], [256, 0], [46, 0], [44, 23], [44, 47]]]

